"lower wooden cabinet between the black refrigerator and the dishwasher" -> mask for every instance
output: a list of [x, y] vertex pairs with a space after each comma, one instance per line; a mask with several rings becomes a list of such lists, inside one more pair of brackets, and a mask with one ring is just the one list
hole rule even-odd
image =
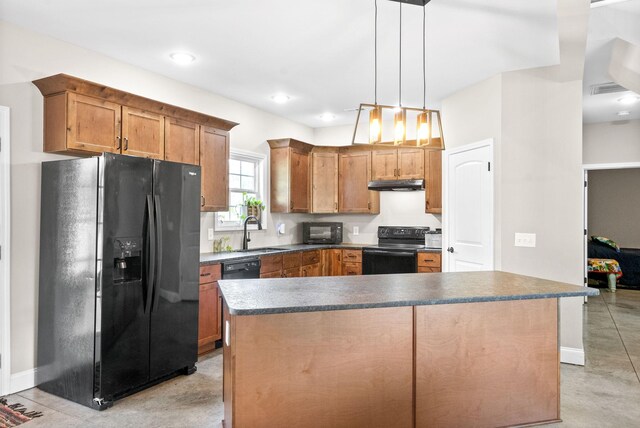
[[200, 267], [200, 300], [198, 312], [198, 355], [215, 349], [222, 339], [222, 299], [218, 289], [220, 265]]

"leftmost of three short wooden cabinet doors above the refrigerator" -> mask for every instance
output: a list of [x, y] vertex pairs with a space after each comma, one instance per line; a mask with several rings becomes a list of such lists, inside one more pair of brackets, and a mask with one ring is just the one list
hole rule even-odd
[[[51, 102], [46, 101], [46, 130], [62, 119], [56, 117], [60, 109], [55, 108], [55, 104], [60, 101], [64, 101], [64, 97], [52, 97]], [[49, 108], [49, 104], [52, 108]], [[120, 153], [121, 111], [120, 104], [69, 92], [67, 94], [67, 148], [96, 154]]]

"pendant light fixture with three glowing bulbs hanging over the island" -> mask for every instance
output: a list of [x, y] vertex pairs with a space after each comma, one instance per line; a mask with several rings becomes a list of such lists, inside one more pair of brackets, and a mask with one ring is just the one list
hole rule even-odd
[[[361, 144], [356, 142], [358, 136], [358, 124], [363, 111], [369, 113], [368, 143], [369, 144], [394, 144], [397, 146], [424, 146], [429, 149], [444, 150], [444, 137], [442, 135], [442, 124], [440, 112], [429, 110], [426, 107], [427, 100], [427, 77], [426, 77], [426, 5], [431, 0], [390, 0], [399, 4], [399, 64], [398, 64], [398, 105], [378, 104], [378, 0], [374, 0], [375, 21], [374, 21], [374, 103], [362, 103], [358, 108], [356, 126], [353, 130], [351, 144]], [[402, 4], [413, 4], [422, 6], [422, 108], [405, 107], [402, 105]], [[393, 114], [393, 132], [391, 141], [383, 142], [384, 112]], [[415, 139], [407, 137], [407, 112], [417, 112]], [[389, 116], [388, 120], [391, 118]], [[410, 136], [411, 137], [411, 136]], [[409, 137], [409, 138], [410, 138]]]

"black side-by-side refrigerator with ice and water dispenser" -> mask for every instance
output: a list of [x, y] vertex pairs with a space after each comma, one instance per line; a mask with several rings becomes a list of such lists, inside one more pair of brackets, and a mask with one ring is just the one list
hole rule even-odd
[[200, 167], [42, 163], [36, 382], [96, 409], [198, 353]]

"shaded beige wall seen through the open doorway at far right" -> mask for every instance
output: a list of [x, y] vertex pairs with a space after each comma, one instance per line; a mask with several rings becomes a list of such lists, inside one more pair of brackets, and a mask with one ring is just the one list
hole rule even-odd
[[640, 248], [640, 168], [589, 171], [588, 233]]

